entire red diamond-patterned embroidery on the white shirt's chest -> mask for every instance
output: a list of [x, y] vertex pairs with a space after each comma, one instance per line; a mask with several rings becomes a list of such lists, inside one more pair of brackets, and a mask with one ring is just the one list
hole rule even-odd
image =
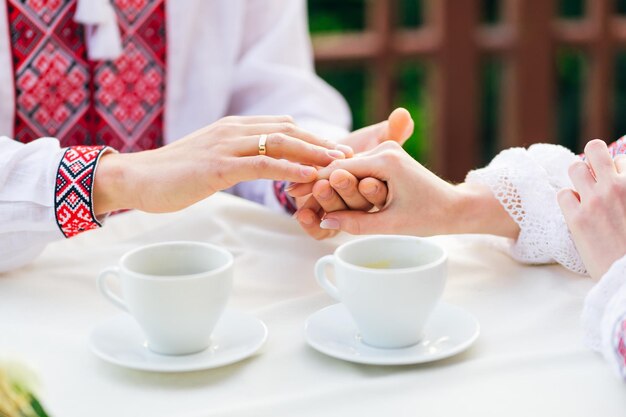
[[59, 138], [63, 146], [121, 151], [163, 143], [165, 2], [114, 0], [123, 52], [87, 59], [76, 0], [8, 0], [15, 88], [15, 138]]

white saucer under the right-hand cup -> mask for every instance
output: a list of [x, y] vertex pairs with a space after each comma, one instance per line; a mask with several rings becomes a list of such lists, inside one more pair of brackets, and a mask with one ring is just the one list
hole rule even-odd
[[361, 342], [346, 307], [335, 304], [312, 314], [304, 331], [309, 345], [334, 358], [370, 365], [409, 365], [436, 361], [464, 351], [478, 337], [480, 326], [465, 310], [439, 303], [420, 343], [400, 349], [380, 349]]

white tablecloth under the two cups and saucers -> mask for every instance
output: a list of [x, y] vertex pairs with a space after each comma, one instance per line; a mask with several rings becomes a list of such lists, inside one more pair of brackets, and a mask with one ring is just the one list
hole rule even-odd
[[[96, 289], [100, 269], [139, 245], [181, 239], [235, 254], [229, 308], [267, 324], [266, 346], [231, 366], [180, 374], [127, 370], [94, 356], [91, 327], [118, 313]], [[228, 195], [175, 214], [114, 216], [0, 274], [0, 354], [37, 369], [56, 417], [626, 415], [626, 385], [580, 342], [591, 281], [557, 265], [519, 265], [475, 237], [437, 238], [449, 251], [444, 301], [481, 324], [468, 351], [382, 367], [309, 348], [304, 321], [333, 303], [313, 265], [345, 239], [316, 242], [289, 217]]]

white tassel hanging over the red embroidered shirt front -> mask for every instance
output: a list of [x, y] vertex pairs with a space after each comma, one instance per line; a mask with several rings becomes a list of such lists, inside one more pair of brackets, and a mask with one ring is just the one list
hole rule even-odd
[[122, 36], [110, 0], [78, 0], [74, 20], [86, 25], [89, 59], [117, 59], [122, 54]]

